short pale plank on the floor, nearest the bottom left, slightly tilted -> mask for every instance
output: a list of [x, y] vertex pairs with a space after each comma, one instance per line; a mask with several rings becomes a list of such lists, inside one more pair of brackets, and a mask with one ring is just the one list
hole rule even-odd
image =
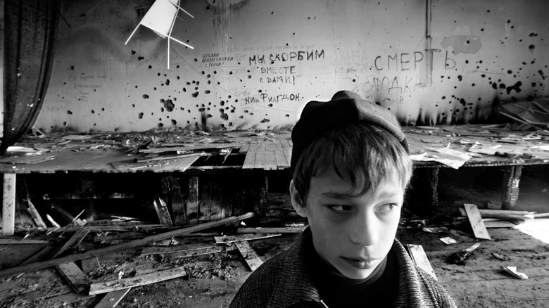
[[101, 283], [92, 283], [91, 285], [89, 285], [89, 295], [109, 293], [116, 290], [134, 288], [141, 285], [149, 285], [151, 283], [166, 281], [169, 279], [179, 278], [186, 275], [187, 275], [187, 272], [185, 271], [184, 267], [175, 267], [173, 269], [168, 269], [165, 271], [157, 271], [155, 273], [145, 274], [141, 276], [122, 278], [114, 281], [106, 281]]

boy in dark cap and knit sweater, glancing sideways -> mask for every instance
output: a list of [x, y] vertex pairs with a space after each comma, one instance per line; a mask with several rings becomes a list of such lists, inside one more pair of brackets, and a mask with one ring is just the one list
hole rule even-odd
[[396, 118], [339, 91], [305, 105], [291, 139], [291, 203], [309, 228], [230, 307], [455, 307], [395, 238], [412, 175]]

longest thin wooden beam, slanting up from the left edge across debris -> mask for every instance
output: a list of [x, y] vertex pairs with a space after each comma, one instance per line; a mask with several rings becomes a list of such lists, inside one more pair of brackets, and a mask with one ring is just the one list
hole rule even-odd
[[141, 238], [139, 240], [132, 240], [131, 242], [127, 243], [121, 243], [118, 245], [108, 246], [106, 248], [99, 248], [96, 250], [88, 250], [87, 252], [82, 252], [75, 255], [68, 255], [66, 257], [59, 257], [57, 259], [51, 259], [44, 262], [36, 262], [32, 264], [27, 264], [25, 266], [20, 267], [12, 267], [11, 269], [5, 269], [4, 271], [0, 271], [0, 278], [11, 276], [14, 274], [20, 274], [27, 271], [37, 271], [39, 269], [45, 269], [47, 267], [54, 267], [58, 264], [63, 264], [67, 262], [75, 262], [77, 260], [81, 259], [87, 259], [90, 257], [96, 257], [99, 255], [105, 255], [107, 253], [116, 252], [119, 250], [125, 250], [127, 248], [134, 248], [137, 246], [146, 245], [148, 243], [156, 242], [157, 240], [163, 240], [166, 238], [172, 238], [174, 236], [184, 236], [185, 234], [193, 233], [196, 231], [202, 231], [206, 229], [210, 229], [216, 226], [223, 226], [225, 224], [232, 224], [234, 222], [240, 222], [241, 220], [248, 219], [254, 216], [253, 212], [249, 212], [246, 214], [241, 214], [239, 216], [229, 217], [225, 219], [220, 219], [215, 222], [206, 222], [203, 224], [197, 224], [195, 226], [188, 226], [187, 228], [177, 229], [174, 231], [169, 231], [165, 233], [155, 234], [153, 236], [148, 236], [146, 238]]

